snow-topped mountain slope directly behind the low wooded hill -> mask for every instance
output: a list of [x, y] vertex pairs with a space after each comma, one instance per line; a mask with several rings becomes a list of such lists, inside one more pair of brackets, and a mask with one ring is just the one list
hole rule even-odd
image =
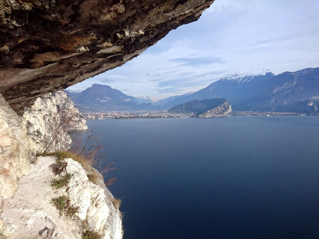
[[259, 89], [259, 84], [273, 76], [275, 75], [268, 70], [261, 74], [245, 73], [227, 76], [211, 83], [202, 90], [169, 100], [162, 108], [169, 109], [193, 99], [203, 100], [216, 97], [226, 98], [231, 105], [234, 105], [239, 101], [258, 95], [262, 91], [262, 89]]

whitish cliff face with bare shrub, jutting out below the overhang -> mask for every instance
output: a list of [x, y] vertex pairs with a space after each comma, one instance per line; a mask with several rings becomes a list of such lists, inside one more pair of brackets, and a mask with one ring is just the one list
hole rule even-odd
[[71, 144], [68, 132], [87, 129], [86, 120], [64, 91], [37, 98], [23, 118], [39, 152], [68, 149]]

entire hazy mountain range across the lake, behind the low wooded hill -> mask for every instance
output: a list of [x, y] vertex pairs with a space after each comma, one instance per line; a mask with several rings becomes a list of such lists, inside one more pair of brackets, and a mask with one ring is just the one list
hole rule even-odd
[[171, 96], [155, 103], [148, 96], [128, 96], [107, 85], [84, 91], [65, 91], [80, 111], [168, 110], [192, 100], [226, 98], [234, 111], [316, 113], [319, 107], [319, 68], [275, 75], [235, 74], [196, 92]]

